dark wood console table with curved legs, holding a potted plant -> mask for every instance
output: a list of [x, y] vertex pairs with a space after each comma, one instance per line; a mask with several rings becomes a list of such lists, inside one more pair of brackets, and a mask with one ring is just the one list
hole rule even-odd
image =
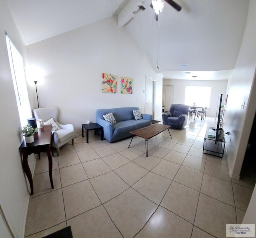
[[34, 134], [34, 142], [26, 144], [24, 140], [20, 145], [19, 149], [22, 150], [23, 160], [22, 160], [22, 168], [28, 177], [28, 181], [30, 184], [30, 194], [34, 193], [33, 188], [33, 178], [28, 166], [28, 155], [39, 154], [40, 152], [46, 152], [49, 161], [49, 176], [52, 188], [52, 156], [50, 153], [50, 147], [52, 142], [52, 125], [44, 125], [42, 128], [38, 128], [38, 132]]

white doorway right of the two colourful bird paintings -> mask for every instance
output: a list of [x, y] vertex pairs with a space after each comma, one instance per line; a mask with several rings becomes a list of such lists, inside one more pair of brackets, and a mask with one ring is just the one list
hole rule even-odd
[[152, 114], [155, 118], [155, 91], [156, 80], [152, 79], [148, 75], [145, 76], [145, 113]]

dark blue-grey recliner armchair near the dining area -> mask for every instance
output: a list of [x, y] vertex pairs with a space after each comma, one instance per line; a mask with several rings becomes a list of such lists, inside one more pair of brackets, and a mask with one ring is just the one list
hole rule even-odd
[[170, 125], [172, 129], [181, 130], [188, 121], [188, 105], [171, 104], [170, 110], [163, 113], [163, 124]]

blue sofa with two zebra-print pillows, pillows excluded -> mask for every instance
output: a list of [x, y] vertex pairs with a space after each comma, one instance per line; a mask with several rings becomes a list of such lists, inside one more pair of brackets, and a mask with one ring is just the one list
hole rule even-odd
[[[104, 128], [104, 138], [110, 143], [130, 137], [130, 131], [151, 125], [152, 115], [142, 114], [142, 119], [135, 120], [133, 110], [138, 107], [120, 107], [96, 110], [96, 123]], [[103, 115], [112, 112], [116, 119], [115, 124], [105, 121]]]

